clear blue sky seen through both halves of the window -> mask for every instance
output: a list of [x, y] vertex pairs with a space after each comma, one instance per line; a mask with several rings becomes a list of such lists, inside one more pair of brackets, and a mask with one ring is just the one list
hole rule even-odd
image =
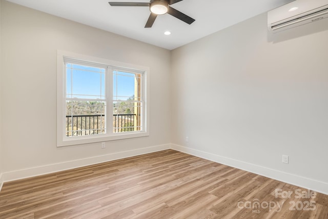
[[[67, 64], [67, 93], [78, 98], [101, 98], [105, 95], [105, 69]], [[73, 89], [72, 89], [73, 87]], [[84, 94], [84, 95], [81, 95]], [[117, 95], [117, 97], [116, 97]], [[125, 100], [134, 95], [134, 74], [113, 72], [113, 99]], [[70, 97], [70, 95], [68, 95]]]

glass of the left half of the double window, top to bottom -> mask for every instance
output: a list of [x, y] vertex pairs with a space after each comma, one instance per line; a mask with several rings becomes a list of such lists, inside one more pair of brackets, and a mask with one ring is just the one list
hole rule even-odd
[[105, 74], [105, 68], [66, 64], [66, 136], [106, 133]]

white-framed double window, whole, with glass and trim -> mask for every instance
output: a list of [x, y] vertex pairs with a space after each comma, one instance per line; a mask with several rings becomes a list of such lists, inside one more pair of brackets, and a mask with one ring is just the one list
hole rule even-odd
[[61, 51], [57, 67], [57, 146], [149, 135], [148, 68]]

